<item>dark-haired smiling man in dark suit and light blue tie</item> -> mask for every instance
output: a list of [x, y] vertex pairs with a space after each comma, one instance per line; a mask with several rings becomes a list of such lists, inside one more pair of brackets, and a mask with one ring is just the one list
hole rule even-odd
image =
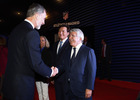
[[[53, 47], [53, 64], [54, 66], [62, 65], [63, 56], [65, 50], [69, 45], [68, 35], [69, 35], [70, 27], [67, 25], [60, 26], [58, 30], [59, 41], [54, 44]], [[64, 100], [64, 73], [61, 75], [56, 75], [54, 77], [54, 86], [55, 86], [55, 94], [56, 100]]]

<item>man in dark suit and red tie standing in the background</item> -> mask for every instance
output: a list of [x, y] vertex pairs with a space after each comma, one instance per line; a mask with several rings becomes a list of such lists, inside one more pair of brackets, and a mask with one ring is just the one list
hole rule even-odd
[[111, 46], [106, 43], [105, 39], [101, 40], [102, 48], [100, 50], [100, 60], [101, 64], [101, 75], [100, 79], [107, 77], [108, 81], [111, 81], [110, 64], [112, 59], [112, 49]]

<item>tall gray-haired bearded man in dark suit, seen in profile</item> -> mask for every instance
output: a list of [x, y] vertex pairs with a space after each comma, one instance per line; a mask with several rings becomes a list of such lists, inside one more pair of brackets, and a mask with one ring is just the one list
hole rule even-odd
[[3, 81], [5, 100], [33, 100], [35, 72], [50, 77], [57, 73], [41, 59], [40, 36], [36, 29], [45, 24], [46, 10], [40, 4], [32, 4], [26, 19], [12, 31], [8, 45], [8, 62]]

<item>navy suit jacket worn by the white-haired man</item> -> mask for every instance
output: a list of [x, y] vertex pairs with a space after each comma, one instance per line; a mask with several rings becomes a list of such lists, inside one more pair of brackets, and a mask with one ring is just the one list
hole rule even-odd
[[[94, 50], [82, 45], [70, 66], [71, 47], [65, 53], [64, 68], [66, 75], [66, 92], [70, 84], [71, 91], [78, 97], [85, 98], [85, 89], [94, 90], [96, 77], [96, 56]], [[70, 78], [70, 83], [68, 83]]]

